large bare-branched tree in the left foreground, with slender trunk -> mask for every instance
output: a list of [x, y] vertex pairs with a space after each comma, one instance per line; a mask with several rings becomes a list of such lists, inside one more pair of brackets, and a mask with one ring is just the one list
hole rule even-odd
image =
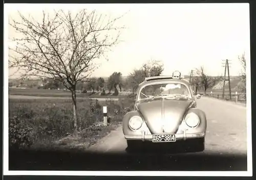
[[16, 47], [9, 47], [9, 68], [24, 71], [23, 77], [58, 77], [71, 91], [77, 133], [76, 84], [97, 68], [93, 60], [104, 57], [118, 43], [123, 27], [116, 27], [115, 22], [121, 17], [111, 19], [85, 9], [75, 14], [59, 10], [52, 15], [43, 11], [41, 21], [18, 14], [21, 20], [11, 19], [10, 26], [22, 38], [13, 38]]

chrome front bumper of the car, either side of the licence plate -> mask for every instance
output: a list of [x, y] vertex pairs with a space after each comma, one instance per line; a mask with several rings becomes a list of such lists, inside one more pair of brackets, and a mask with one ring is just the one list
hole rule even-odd
[[[176, 140], [186, 140], [186, 139], [195, 139], [195, 138], [203, 138], [205, 137], [205, 133], [190, 133], [186, 134], [175, 134]], [[144, 131], [142, 131], [141, 135], [124, 135], [126, 140], [142, 140], [142, 141], [152, 141], [153, 135], [146, 135]]]

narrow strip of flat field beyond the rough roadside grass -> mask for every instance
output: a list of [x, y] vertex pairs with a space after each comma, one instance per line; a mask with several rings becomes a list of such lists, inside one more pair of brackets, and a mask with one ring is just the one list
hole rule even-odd
[[[117, 96], [113, 96], [112, 93], [106, 92], [106, 95], [101, 95], [101, 92], [77, 92], [77, 97], [91, 97], [91, 98], [126, 98], [129, 92], [119, 92]], [[26, 95], [26, 96], [40, 96], [40, 97], [71, 97], [71, 93], [62, 90], [50, 90], [50, 89], [18, 89], [10, 88], [9, 95]]]

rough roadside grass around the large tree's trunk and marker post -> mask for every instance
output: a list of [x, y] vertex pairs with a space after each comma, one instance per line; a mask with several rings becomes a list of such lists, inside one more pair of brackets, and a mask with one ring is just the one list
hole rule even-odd
[[[9, 148], [86, 149], [121, 124], [134, 101], [77, 99], [80, 129], [74, 135], [71, 99], [9, 99]], [[107, 126], [102, 124], [103, 106], [111, 118]]]

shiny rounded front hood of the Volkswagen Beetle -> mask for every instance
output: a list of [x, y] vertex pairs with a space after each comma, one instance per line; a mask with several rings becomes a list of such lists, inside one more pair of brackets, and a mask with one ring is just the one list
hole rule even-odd
[[136, 106], [152, 134], [176, 133], [192, 102], [186, 98], [155, 98], [138, 102]]

